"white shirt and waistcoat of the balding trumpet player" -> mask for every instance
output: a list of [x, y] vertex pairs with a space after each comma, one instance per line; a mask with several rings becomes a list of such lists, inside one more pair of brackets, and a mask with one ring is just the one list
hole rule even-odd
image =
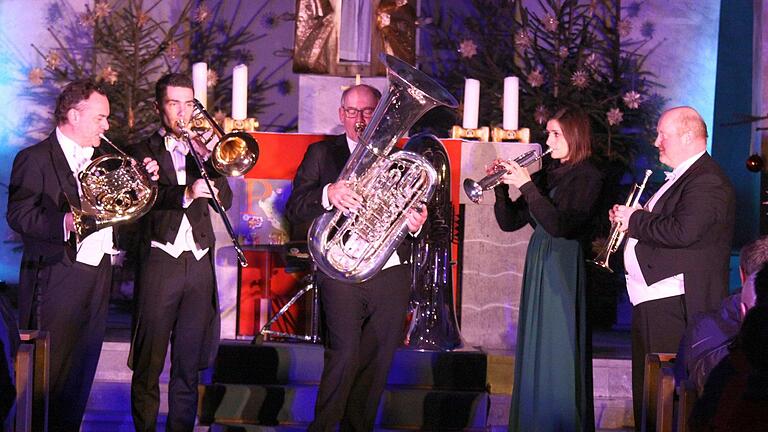
[[[661, 198], [661, 196], [675, 184], [677, 179], [679, 179], [694, 162], [699, 160], [704, 153], [706, 152], [698, 153], [678, 165], [677, 168], [672, 171], [671, 175], [667, 176], [667, 181], [661, 185], [659, 190], [648, 200], [644, 209], [652, 211], [656, 202], [659, 201], [659, 198]], [[630, 236], [627, 239], [627, 246], [624, 248], [624, 269], [627, 272], [627, 293], [629, 294], [629, 301], [632, 302], [632, 305], [637, 306], [643, 302], [685, 294], [685, 277], [682, 273], [662, 279], [649, 286], [645, 282], [643, 273], [640, 270], [640, 263], [638, 262], [637, 254], [635, 253], [636, 245], [637, 239]]]

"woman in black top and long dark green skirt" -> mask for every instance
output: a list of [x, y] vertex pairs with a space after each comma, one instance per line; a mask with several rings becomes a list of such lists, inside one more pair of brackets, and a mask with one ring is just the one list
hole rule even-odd
[[[589, 119], [561, 110], [547, 122], [552, 163], [534, 174], [515, 162], [495, 188], [504, 231], [531, 224], [523, 273], [510, 431], [594, 430], [583, 246], [603, 183], [589, 161]], [[509, 185], [521, 192], [509, 198]]]

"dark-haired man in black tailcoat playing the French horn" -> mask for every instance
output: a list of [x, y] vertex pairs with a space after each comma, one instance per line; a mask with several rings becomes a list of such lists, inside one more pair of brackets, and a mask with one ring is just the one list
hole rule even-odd
[[48, 430], [76, 431], [101, 353], [117, 251], [112, 227], [76, 243], [70, 204], [85, 204], [77, 175], [100, 155], [109, 101], [93, 81], [73, 81], [54, 115], [56, 129], [13, 162], [6, 217], [24, 242], [19, 327], [51, 338]]

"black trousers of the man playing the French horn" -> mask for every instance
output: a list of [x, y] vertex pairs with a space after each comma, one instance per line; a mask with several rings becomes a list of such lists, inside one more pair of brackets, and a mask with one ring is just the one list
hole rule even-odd
[[[32, 279], [28, 279], [31, 277]], [[29, 328], [50, 335], [49, 431], [77, 431], [91, 392], [107, 327], [112, 284], [110, 256], [98, 266], [57, 263], [25, 274], [34, 289]], [[33, 281], [32, 285], [27, 285]], [[26, 288], [25, 288], [26, 289]]]

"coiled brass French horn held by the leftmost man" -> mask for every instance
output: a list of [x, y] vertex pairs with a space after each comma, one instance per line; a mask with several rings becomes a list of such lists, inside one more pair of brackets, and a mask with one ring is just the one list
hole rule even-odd
[[101, 139], [118, 154], [97, 157], [78, 175], [83, 200], [93, 211], [70, 205], [79, 243], [94, 232], [130, 222], [145, 215], [157, 198], [142, 165], [120, 150], [107, 137]]

